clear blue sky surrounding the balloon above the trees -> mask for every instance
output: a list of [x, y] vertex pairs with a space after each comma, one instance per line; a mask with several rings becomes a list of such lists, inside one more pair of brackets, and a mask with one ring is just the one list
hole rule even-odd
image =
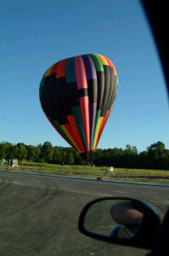
[[42, 112], [39, 84], [55, 62], [99, 53], [119, 90], [98, 148], [169, 148], [165, 79], [138, 0], [3, 0], [0, 36], [0, 143], [69, 147]]

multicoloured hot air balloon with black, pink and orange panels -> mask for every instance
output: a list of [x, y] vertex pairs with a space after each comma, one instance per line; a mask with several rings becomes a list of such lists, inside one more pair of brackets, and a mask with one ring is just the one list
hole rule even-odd
[[115, 65], [104, 55], [87, 54], [54, 63], [40, 84], [42, 110], [54, 129], [89, 160], [115, 103]]

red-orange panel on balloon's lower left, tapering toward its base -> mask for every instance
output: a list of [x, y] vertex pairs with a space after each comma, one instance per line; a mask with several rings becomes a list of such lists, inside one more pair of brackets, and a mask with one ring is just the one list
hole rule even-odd
[[78, 131], [77, 126], [76, 126], [76, 120], [75, 120], [74, 116], [73, 115], [68, 115], [67, 119], [68, 119], [68, 121], [70, 123], [70, 127], [73, 131], [73, 135], [74, 135], [73, 137], [76, 138], [76, 140], [75, 140], [76, 144], [80, 148], [81, 152], [85, 152], [85, 150], [83, 148], [83, 145], [82, 145], [81, 137], [79, 135], [79, 131]]

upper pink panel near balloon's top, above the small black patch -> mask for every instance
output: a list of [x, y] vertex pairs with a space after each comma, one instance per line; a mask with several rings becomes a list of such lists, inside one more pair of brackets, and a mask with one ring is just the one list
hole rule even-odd
[[87, 75], [85, 66], [82, 60], [82, 56], [75, 57], [75, 70], [76, 70], [76, 82], [77, 89], [87, 88]]

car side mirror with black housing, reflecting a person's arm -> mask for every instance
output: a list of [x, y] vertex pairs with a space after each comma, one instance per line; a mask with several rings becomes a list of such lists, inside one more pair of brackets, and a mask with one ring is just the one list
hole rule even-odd
[[152, 249], [160, 228], [155, 209], [144, 201], [106, 197], [89, 202], [79, 218], [79, 230], [111, 243]]

